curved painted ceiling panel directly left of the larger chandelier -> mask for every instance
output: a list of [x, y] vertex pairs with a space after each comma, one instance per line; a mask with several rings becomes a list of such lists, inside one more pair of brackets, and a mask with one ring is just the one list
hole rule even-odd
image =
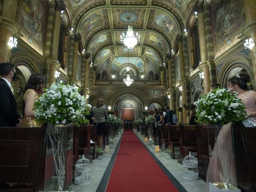
[[100, 48], [103, 45], [106, 44], [112, 44], [112, 37], [110, 32], [104, 32], [101, 34], [96, 35], [92, 41], [90, 42], [90, 46], [89, 46], [89, 52], [94, 53], [96, 51], [96, 48]]

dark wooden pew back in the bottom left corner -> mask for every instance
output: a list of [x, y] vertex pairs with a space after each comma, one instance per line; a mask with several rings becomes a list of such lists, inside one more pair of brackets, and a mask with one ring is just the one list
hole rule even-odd
[[33, 185], [30, 188], [1, 187], [1, 192], [38, 191], [45, 145], [46, 126], [0, 127], [0, 181]]

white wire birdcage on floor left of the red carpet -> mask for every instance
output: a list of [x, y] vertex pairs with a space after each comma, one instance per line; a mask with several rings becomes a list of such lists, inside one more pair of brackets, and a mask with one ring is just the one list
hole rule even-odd
[[84, 155], [81, 159], [76, 162], [75, 165], [75, 183], [77, 185], [87, 185], [91, 182], [91, 175], [89, 171], [91, 170], [90, 160], [84, 158]]

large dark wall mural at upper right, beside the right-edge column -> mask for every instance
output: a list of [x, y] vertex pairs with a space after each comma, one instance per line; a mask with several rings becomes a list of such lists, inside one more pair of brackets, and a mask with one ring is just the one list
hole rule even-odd
[[212, 12], [215, 44], [218, 49], [242, 25], [241, 6], [237, 0], [220, 1], [212, 8]]

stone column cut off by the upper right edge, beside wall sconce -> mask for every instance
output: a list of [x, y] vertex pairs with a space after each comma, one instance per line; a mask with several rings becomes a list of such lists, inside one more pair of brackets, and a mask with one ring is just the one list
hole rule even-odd
[[[255, 0], [244, 0], [244, 8], [245, 8], [245, 17], [246, 17], [246, 27], [244, 28], [244, 34], [248, 36], [248, 38], [252, 38], [252, 40], [256, 43], [256, 1]], [[252, 67], [254, 76], [256, 76], [256, 46], [251, 50], [252, 57]], [[256, 78], [254, 78], [256, 86]]]

